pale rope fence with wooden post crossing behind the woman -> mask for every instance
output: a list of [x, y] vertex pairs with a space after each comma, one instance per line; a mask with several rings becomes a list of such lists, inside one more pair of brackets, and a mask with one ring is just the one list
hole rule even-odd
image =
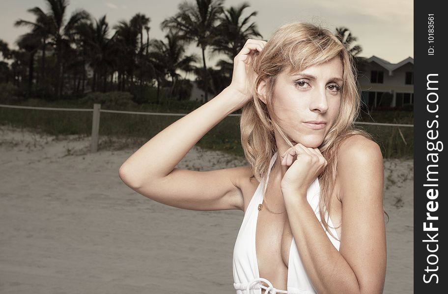
[[[93, 108], [56, 108], [56, 107], [35, 107], [35, 106], [18, 106], [0, 104], [0, 107], [4, 108], [20, 108], [20, 109], [35, 109], [35, 110], [53, 110], [53, 111], [91, 111], [92, 117], [92, 135], [90, 139], [90, 152], [96, 153], [98, 151], [99, 130], [100, 130], [100, 113], [124, 113], [124, 114], [140, 114], [140, 115], [161, 115], [161, 116], [186, 116], [188, 113], [160, 113], [160, 112], [139, 112], [139, 111], [122, 111], [122, 110], [108, 110], [101, 109], [101, 104], [93, 104]], [[241, 114], [229, 114], [228, 116], [241, 116]], [[395, 121], [395, 120], [394, 120]], [[396, 121], [395, 121], [396, 122]], [[404, 136], [399, 127], [414, 127], [414, 124], [402, 124], [402, 123], [365, 123], [355, 122], [355, 124], [368, 124], [368, 125], [382, 125], [382, 126], [396, 126], [400, 132], [401, 139], [404, 144], [407, 145], [404, 140]]]

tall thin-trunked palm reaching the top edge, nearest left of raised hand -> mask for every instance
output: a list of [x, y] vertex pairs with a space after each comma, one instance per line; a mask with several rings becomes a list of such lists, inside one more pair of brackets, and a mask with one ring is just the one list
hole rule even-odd
[[[162, 29], [178, 29], [181, 36], [188, 42], [196, 41], [196, 46], [202, 50], [203, 79], [208, 80], [207, 66], [205, 63], [205, 50], [214, 43], [215, 23], [223, 12], [224, 0], [195, 0], [190, 4], [187, 1], [179, 4], [179, 12], [162, 22]], [[205, 82], [208, 85], [208, 82]], [[205, 88], [205, 102], [208, 100]]]

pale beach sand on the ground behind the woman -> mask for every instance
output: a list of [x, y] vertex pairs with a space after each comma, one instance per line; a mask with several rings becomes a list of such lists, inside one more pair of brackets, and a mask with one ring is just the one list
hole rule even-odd
[[[90, 154], [89, 140], [0, 126], [0, 293], [235, 293], [232, 252], [243, 212], [182, 210], [141, 196], [118, 177], [137, 149]], [[384, 293], [410, 294], [414, 166], [384, 164]], [[178, 167], [244, 165], [194, 147]]]

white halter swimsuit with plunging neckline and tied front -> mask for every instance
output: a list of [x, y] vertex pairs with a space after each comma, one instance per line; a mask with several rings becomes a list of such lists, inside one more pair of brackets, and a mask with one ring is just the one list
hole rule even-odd
[[[288, 262], [288, 277], [287, 277], [287, 291], [279, 290], [272, 286], [271, 282], [267, 279], [261, 278], [258, 272], [258, 264], [255, 252], [255, 230], [258, 218], [258, 204], [263, 202], [262, 188], [266, 191], [267, 182], [269, 180], [269, 172], [277, 158], [277, 152], [271, 158], [269, 170], [266, 175], [266, 181], [260, 182], [258, 188], [252, 196], [249, 206], [246, 209], [243, 223], [241, 224], [238, 236], [236, 238], [235, 247], [233, 249], [233, 287], [237, 294], [261, 294], [261, 289], [265, 289], [264, 294], [311, 294], [315, 293], [311, 282], [308, 279], [308, 275], [300, 260], [299, 252], [297, 250], [294, 238], [291, 241], [291, 247], [289, 249], [289, 262]], [[320, 221], [319, 215], [319, 195], [320, 186], [319, 181], [316, 178], [308, 187], [307, 200], [309, 205], [314, 210], [317, 219]], [[329, 229], [337, 236], [336, 230], [333, 227], [333, 223], [328, 215], [325, 216], [328, 219]], [[323, 226], [322, 226], [323, 228]], [[329, 232], [327, 236], [333, 245], [339, 250], [339, 241], [333, 238]], [[261, 284], [261, 281], [268, 284], [268, 287]]]

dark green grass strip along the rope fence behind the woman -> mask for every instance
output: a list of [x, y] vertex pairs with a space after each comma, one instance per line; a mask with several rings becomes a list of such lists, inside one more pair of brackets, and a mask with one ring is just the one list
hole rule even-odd
[[[28, 99], [22, 105], [67, 108], [92, 108], [90, 105], [79, 105], [75, 100], [44, 102]], [[183, 109], [179, 109], [179, 105]], [[120, 110], [145, 112], [189, 113], [197, 107], [196, 102], [165, 103], [162, 105], [146, 104], [129, 106]], [[113, 109], [103, 106], [103, 109]], [[118, 109], [117, 109], [118, 110]], [[151, 116], [119, 113], [101, 113], [99, 149], [138, 148], [150, 138], [162, 131], [169, 124], [179, 120], [179, 116]], [[361, 121], [378, 123], [413, 123], [413, 113], [408, 111], [378, 111], [370, 115], [363, 114]], [[198, 122], [200, 123], [200, 122]], [[0, 107], [0, 124], [18, 128], [33, 129], [38, 133], [50, 135], [90, 136], [92, 125], [91, 112], [47, 111], [31, 109], [13, 109]], [[393, 126], [357, 125], [369, 132], [378, 143], [384, 158], [413, 158], [414, 128], [401, 127], [406, 140], [403, 142], [398, 128]], [[103, 136], [106, 136], [104, 139]], [[196, 144], [198, 147], [221, 150], [236, 156], [244, 156], [240, 143], [239, 117], [226, 117], [202, 137]]]

